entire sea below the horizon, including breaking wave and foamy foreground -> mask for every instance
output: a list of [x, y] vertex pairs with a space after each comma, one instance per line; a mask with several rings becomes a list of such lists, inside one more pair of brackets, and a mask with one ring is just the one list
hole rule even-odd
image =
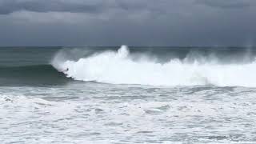
[[256, 143], [251, 47], [1, 47], [0, 143]]

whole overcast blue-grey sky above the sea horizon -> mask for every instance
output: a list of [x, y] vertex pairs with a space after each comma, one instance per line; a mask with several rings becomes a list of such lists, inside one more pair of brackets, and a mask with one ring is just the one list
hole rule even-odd
[[256, 0], [0, 0], [0, 46], [255, 46]]

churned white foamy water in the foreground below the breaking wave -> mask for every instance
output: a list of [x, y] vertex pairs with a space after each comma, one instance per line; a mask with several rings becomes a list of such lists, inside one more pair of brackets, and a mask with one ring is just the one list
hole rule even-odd
[[[254, 89], [4, 87], [4, 143], [254, 143]], [[46, 93], [47, 92], [47, 93]]]

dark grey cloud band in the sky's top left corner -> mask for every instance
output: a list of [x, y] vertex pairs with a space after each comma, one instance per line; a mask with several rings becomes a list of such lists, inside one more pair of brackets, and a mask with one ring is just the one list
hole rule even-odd
[[34, 12], [73, 12], [73, 13], [101, 13], [106, 7], [104, 2], [67, 2], [60, 0], [34, 0], [34, 1], [18, 1], [18, 0], [2, 0], [0, 2], [0, 14], [10, 14], [19, 10], [27, 10]]

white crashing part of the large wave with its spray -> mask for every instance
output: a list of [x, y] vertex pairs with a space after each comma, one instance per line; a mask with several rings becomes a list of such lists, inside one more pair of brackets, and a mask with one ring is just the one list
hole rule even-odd
[[161, 63], [143, 54], [134, 60], [129, 48], [121, 46], [118, 51], [103, 51], [78, 60], [57, 54], [52, 63], [67, 77], [81, 81], [151, 86], [256, 86], [254, 61], [224, 65], [185, 60], [170, 58]]

